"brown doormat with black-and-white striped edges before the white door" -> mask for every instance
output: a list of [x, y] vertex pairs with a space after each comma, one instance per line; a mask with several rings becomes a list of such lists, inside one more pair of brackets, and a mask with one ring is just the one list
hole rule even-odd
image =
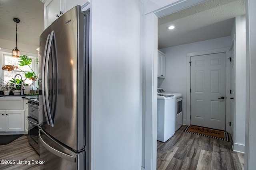
[[184, 132], [229, 142], [229, 135], [226, 131], [219, 131], [215, 129], [209, 129], [206, 127], [190, 125], [186, 127]]

